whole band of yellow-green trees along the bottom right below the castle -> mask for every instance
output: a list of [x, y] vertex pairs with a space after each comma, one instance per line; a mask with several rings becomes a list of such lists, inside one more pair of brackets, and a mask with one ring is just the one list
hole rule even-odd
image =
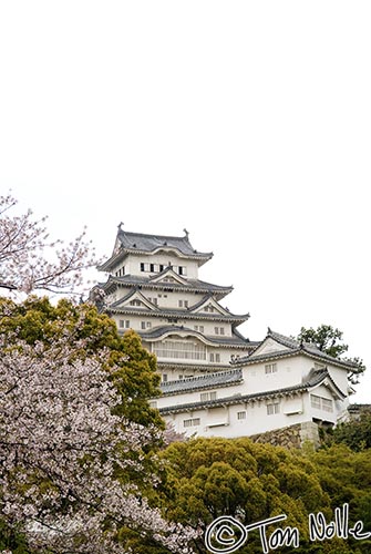
[[[322, 512], [328, 523], [334, 510], [349, 504], [352, 525], [362, 521], [371, 531], [371, 450], [347, 445], [292, 450], [243, 439], [192, 439], [162, 452], [163, 484], [156, 499], [168, 519], [202, 529], [196, 552], [206, 554], [205, 530], [217, 517], [233, 516], [243, 525], [286, 514], [279, 526], [297, 527], [298, 548], [282, 553], [369, 554], [369, 540], [334, 536], [310, 541], [309, 514]], [[269, 536], [277, 525], [267, 529]], [[237, 531], [236, 531], [237, 533]], [[238, 535], [237, 535], [238, 536]], [[239, 554], [262, 552], [257, 531], [249, 533]]]

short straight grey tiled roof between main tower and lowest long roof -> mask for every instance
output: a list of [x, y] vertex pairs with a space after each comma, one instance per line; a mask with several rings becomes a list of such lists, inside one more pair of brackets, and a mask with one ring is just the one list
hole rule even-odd
[[230, 369], [229, 371], [217, 371], [199, 377], [177, 379], [176, 381], [166, 381], [161, 383], [163, 396], [182, 394], [205, 389], [215, 389], [219, 387], [229, 387], [243, 381], [241, 369]]

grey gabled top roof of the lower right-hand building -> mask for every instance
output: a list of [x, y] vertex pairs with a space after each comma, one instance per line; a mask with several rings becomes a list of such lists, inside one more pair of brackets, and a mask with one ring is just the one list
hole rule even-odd
[[328, 363], [332, 366], [342, 367], [347, 370], [354, 369], [354, 363], [351, 361], [333, 358], [319, 350], [316, 345], [310, 342], [300, 342], [291, 337], [286, 337], [268, 328], [266, 338], [260, 345], [249, 355], [244, 356], [235, 361], [236, 365], [249, 365], [264, 360], [271, 360], [277, 358], [286, 358], [288, 356], [303, 355], [309, 358]]

